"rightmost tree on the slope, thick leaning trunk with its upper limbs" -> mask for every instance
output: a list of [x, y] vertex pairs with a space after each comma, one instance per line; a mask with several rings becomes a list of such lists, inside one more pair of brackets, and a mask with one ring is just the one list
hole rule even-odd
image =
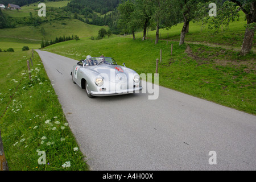
[[245, 30], [245, 37], [243, 38], [243, 44], [240, 55], [245, 56], [251, 51], [253, 47], [254, 32], [256, 30], [256, 1], [255, 0], [230, 0], [239, 6], [238, 10], [242, 10], [245, 13], [247, 24]]

